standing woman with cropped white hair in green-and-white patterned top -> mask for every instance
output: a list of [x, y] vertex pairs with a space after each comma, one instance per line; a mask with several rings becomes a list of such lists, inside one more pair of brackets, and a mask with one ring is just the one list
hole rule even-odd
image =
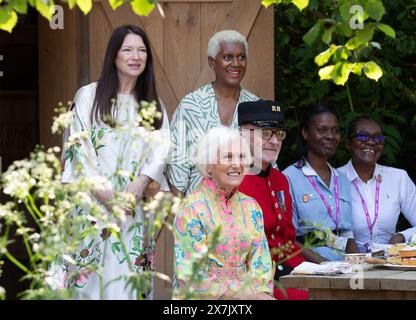
[[235, 30], [215, 33], [208, 41], [208, 65], [215, 80], [187, 94], [172, 117], [172, 149], [167, 177], [174, 193], [191, 192], [202, 176], [190, 162], [190, 152], [209, 129], [237, 129], [237, 105], [259, 98], [240, 86], [247, 67], [248, 44]]

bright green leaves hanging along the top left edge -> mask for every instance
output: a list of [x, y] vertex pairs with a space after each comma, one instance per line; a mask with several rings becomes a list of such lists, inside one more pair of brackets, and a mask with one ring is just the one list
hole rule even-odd
[[[70, 9], [77, 5], [84, 14], [88, 14], [93, 6], [92, 0], [0, 0], [0, 30], [12, 32], [18, 21], [18, 14], [26, 14], [28, 6], [50, 20], [55, 12], [55, 4], [60, 3], [67, 3]], [[130, 3], [134, 13], [147, 16], [156, 6], [157, 0], [108, 0], [108, 3], [113, 10], [124, 3]]]

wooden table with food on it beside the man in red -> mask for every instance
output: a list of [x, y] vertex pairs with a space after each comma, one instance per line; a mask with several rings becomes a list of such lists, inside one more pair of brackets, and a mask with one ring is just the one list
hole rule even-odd
[[309, 289], [311, 300], [416, 300], [416, 271], [366, 266], [354, 274], [283, 276], [280, 284], [285, 288]]

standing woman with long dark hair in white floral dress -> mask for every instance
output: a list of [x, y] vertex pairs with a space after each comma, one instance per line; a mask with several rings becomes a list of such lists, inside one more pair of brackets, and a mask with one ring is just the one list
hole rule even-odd
[[[167, 146], [152, 144], [151, 139], [149, 142], [140, 135], [143, 128], [136, 121], [143, 101], [156, 102], [162, 115], [153, 117], [156, 130], [150, 135], [169, 140], [166, 112], [156, 92], [149, 40], [137, 26], [120, 26], [109, 40], [100, 79], [80, 88], [75, 95], [69, 134], [78, 137], [78, 143], [65, 150], [62, 177], [64, 182], [80, 176], [105, 177], [109, 187], [94, 195], [108, 211], [115, 192], [129, 192], [140, 199], [150, 182], [161, 184], [163, 180]], [[81, 208], [76, 214], [88, 214], [88, 209]], [[126, 258], [119, 239], [96, 222], [97, 236], [86, 237], [80, 252], [74, 254], [77, 265], [83, 266], [78, 276], [69, 280], [78, 297], [134, 298], [126, 290], [125, 276], [152, 270], [154, 241], [149, 223], [140, 206], [134, 212], [127, 211], [121, 226]], [[97, 267], [99, 275], [91, 271]], [[149, 292], [143, 292], [143, 297], [148, 297]]]

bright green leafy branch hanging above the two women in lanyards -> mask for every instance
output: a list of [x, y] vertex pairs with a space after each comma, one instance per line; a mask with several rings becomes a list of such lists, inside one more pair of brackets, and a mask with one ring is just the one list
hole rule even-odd
[[[322, 67], [319, 70], [320, 79], [332, 80], [343, 86], [353, 73], [359, 76], [364, 74], [369, 79], [378, 81], [383, 75], [382, 69], [375, 61], [367, 60], [374, 48], [381, 49], [379, 43], [372, 41], [375, 31], [378, 29], [386, 36], [395, 38], [392, 27], [378, 22], [385, 14], [383, 2], [323, 1], [319, 6], [319, 9], [324, 10], [316, 12], [320, 18], [303, 40], [309, 46], [316, 46], [319, 41], [329, 45], [329, 49], [321, 52], [315, 59], [315, 63]], [[318, 9], [316, 6], [315, 8]], [[324, 67], [327, 63], [331, 64]]]

